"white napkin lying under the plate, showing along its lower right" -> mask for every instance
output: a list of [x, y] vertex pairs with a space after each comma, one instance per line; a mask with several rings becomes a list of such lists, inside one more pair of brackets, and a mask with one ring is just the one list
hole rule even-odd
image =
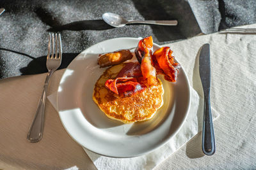
[[[57, 92], [54, 92], [47, 98], [57, 110], [56, 94]], [[202, 130], [203, 102], [202, 97], [191, 87], [191, 106], [184, 125], [166, 145], [146, 155], [128, 159], [117, 159], [90, 152], [86, 148], [83, 149], [90, 159], [92, 159], [97, 169], [153, 169]], [[219, 116], [212, 108], [213, 120], [216, 120]], [[201, 143], [198, 143], [198, 145], [201, 145]]]

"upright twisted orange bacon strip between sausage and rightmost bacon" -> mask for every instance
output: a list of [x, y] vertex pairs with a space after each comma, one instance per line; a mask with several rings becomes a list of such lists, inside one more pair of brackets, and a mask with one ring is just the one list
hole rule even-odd
[[143, 78], [147, 79], [148, 85], [157, 85], [156, 69], [152, 66], [153, 39], [152, 36], [141, 39], [135, 50], [135, 55], [141, 63], [141, 73]]

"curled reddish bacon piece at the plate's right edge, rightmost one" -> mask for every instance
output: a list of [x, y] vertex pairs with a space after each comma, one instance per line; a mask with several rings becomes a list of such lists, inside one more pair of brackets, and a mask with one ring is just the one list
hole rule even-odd
[[164, 46], [156, 50], [152, 55], [152, 60], [157, 69], [157, 74], [164, 74], [164, 79], [168, 81], [175, 82], [177, 80], [180, 64], [174, 62], [170, 47]]

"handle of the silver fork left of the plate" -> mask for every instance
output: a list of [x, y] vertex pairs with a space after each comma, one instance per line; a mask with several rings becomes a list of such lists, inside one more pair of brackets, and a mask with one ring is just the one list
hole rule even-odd
[[32, 143], [36, 143], [42, 139], [43, 130], [44, 130], [45, 100], [46, 100], [49, 80], [53, 72], [54, 71], [51, 70], [47, 73], [45, 83], [44, 83], [44, 91], [40, 98], [33, 122], [29, 128], [27, 139], [29, 142], [32, 142]]

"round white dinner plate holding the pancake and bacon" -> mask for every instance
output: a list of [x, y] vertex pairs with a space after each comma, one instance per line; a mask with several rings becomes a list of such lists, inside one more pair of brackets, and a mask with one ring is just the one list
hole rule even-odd
[[[61, 78], [57, 96], [61, 122], [77, 143], [92, 152], [109, 157], [136, 157], [151, 152], [168, 142], [188, 115], [189, 81], [182, 67], [175, 83], [159, 77], [164, 86], [164, 104], [151, 120], [123, 124], [106, 117], [94, 103], [94, 85], [106, 70], [97, 65], [99, 54], [134, 48], [139, 41], [116, 38], [90, 46], [72, 60]], [[154, 44], [154, 50], [157, 48], [160, 46]]]

